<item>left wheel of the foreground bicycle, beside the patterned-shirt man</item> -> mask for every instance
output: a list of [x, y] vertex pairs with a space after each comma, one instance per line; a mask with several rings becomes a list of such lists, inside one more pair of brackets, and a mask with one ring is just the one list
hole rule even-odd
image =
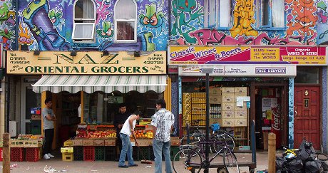
[[202, 157], [200, 157], [199, 152], [190, 149], [180, 150], [172, 160], [172, 166], [175, 173], [183, 172], [200, 172], [202, 169]]

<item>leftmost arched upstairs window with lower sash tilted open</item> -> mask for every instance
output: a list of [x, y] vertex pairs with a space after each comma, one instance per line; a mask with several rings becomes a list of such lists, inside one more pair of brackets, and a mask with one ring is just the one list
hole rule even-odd
[[73, 41], [95, 41], [96, 4], [92, 0], [78, 0], [74, 4]]

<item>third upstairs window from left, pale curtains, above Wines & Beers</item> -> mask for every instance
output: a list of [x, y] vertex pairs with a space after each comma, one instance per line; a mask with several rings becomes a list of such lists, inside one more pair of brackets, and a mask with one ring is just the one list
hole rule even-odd
[[208, 28], [231, 28], [232, 10], [233, 8], [231, 1], [205, 1], [205, 26]]

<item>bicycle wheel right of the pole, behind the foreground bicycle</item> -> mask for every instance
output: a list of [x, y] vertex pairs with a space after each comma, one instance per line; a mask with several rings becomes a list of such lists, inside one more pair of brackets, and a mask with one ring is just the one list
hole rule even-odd
[[230, 149], [231, 152], [235, 150], [235, 139], [227, 134], [217, 135], [217, 138], [215, 139], [214, 143], [214, 150], [215, 152], [220, 152], [219, 155], [223, 156], [224, 150], [222, 150], [222, 147], [225, 147], [225, 142], [227, 143], [227, 147]]

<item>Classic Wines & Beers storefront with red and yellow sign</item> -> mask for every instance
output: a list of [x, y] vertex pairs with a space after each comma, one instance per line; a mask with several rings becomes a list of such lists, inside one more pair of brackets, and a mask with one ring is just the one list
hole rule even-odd
[[[180, 136], [185, 134], [187, 122], [205, 131], [202, 70], [209, 68], [210, 125], [219, 122], [222, 128], [232, 130], [237, 147], [250, 146], [250, 122], [255, 120], [258, 149], [267, 149], [268, 132], [277, 135], [277, 147], [298, 147], [303, 136], [319, 149], [324, 122], [316, 113], [321, 104], [317, 98], [322, 94], [315, 90], [321, 90], [318, 65], [327, 65], [326, 59], [326, 47], [317, 46], [169, 46], [168, 64], [178, 66], [180, 78]], [[314, 69], [314, 64], [317, 73], [304, 70]], [[317, 76], [316, 84], [299, 84], [304, 88], [298, 91], [294, 83], [304, 74], [308, 80]], [[301, 108], [306, 111], [299, 111]], [[302, 122], [300, 115], [311, 120]]]

